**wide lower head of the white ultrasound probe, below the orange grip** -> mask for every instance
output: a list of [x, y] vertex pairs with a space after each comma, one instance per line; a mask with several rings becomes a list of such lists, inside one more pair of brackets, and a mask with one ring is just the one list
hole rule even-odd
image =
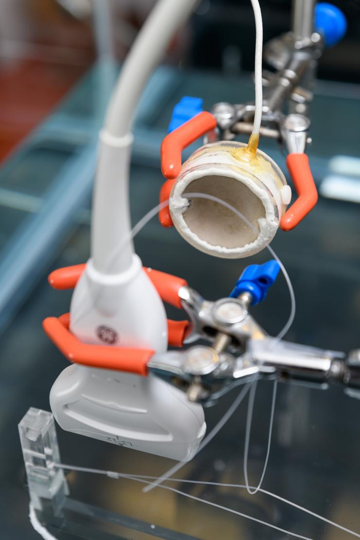
[[202, 407], [158, 377], [67, 367], [50, 404], [67, 431], [174, 460], [191, 460], [205, 435]]

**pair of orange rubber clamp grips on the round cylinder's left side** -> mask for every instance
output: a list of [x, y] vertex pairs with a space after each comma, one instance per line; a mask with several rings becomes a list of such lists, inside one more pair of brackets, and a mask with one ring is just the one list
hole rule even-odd
[[[181, 151], [196, 139], [216, 127], [215, 117], [207, 111], [196, 114], [185, 124], [169, 133], [161, 144], [161, 172], [167, 178], [160, 191], [160, 203], [165, 203], [181, 170]], [[168, 205], [159, 211], [159, 220], [163, 227], [172, 227], [173, 221]]]

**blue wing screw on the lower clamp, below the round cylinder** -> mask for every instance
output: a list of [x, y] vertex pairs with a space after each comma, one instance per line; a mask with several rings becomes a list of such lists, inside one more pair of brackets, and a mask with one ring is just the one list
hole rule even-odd
[[279, 271], [279, 263], [274, 259], [263, 265], [250, 265], [244, 269], [229, 296], [237, 298], [241, 293], [250, 293], [253, 297], [251, 305], [255, 306], [264, 300]]

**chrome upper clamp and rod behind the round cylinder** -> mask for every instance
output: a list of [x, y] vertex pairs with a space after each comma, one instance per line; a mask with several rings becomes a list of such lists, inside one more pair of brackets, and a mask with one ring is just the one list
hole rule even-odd
[[[263, 71], [265, 87], [260, 135], [279, 140], [289, 153], [303, 153], [310, 142], [308, 105], [313, 99], [314, 73], [323, 49], [321, 35], [314, 32], [314, 0], [293, 2], [293, 30], [271, 40], [264, 59], [275, 72]], [[287, 114], [284, 114], [287, 105]], [[221, 139], [250, 134], [255, 106], [218, 103], [212, 113]]]

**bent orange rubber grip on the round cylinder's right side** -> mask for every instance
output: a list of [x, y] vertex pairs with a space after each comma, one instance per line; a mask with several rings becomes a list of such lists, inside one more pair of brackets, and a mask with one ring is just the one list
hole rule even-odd
[[286, 164], [298, 194], [295, 203], [290, 206], [280, 220], [283, 231], [291, 231], [317, 203], [317, 190], [310, 171], [309, 158], [306, 154], [289, 154]]

